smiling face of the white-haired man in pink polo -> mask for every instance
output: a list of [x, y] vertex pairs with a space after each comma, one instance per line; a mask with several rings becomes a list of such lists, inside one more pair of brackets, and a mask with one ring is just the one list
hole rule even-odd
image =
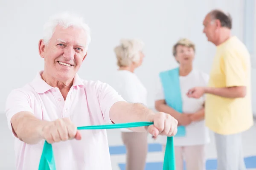
[[73, 79], [87, 55], [87, 34], [81, 28], [57, 26], [48, 44], [39, 41], [44, 72], [58, 81]]

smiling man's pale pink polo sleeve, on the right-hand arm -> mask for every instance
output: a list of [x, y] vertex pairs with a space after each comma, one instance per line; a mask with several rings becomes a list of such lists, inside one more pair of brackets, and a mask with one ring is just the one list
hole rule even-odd
[[109, 111], [113, 104], [119, 101], [125, 101], [110, 85], [98, 82], [96, 91], [99, 97], [99, 105], [105, 122], [111, 122]]

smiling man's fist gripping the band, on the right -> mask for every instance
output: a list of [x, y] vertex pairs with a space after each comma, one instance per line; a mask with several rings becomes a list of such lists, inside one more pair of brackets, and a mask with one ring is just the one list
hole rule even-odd
[[158, 112], [151, 116], [150, 122], [154, 125], [148, 126], [148, 132], [156, 138], [158, 135], [175, 136], [177, 133], [178, 121], [171, 115], [163, 112]]

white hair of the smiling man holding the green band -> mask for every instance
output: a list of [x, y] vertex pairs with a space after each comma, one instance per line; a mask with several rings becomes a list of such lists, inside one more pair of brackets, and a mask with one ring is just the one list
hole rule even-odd
[[91, 41], [90, 28], [89, 26], [87, 26], [86, 23], [84, 23], [82, 17], [76, 16], [75, 14], [69, 14], [67, 12], [55, 14], [52, 17], [50, 17], [49, 20], [44, 24], [43, 39], [45, 44], [48, 44], [49, 40], [52, 38], [52, 34], [54, 33], [56, 26], [63, 26], [64, 28], [82, 28], [85, 31], [85, 34], [87, 34], [87, 50], [88, 45]]

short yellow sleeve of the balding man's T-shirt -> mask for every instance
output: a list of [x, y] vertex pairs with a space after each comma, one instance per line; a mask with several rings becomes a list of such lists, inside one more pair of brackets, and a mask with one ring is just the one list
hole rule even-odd
[[246, 66], [243, 56], [235, 52], [227, 52], [222, 58], [222, 70], [226, 78], [226, 86], [245, 86]]

